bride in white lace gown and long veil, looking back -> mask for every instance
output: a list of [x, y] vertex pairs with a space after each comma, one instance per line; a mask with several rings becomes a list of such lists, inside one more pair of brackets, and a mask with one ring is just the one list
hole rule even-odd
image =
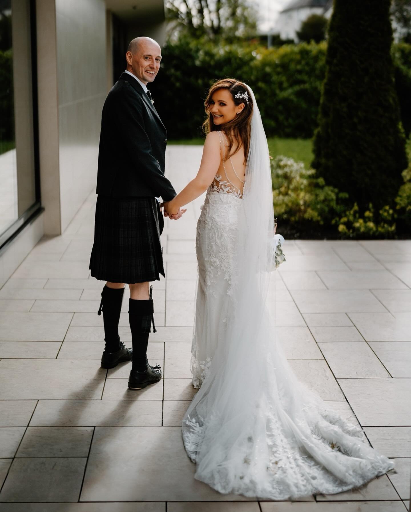
[[220, 80], [205, 106], [198, 174], [165, 203], [173, 215], [207, 189], [191, 361], [200, 389], [182, 421], [195, 478], [275, 500], [358, 487], [393, 462], [298, 381], [276, 340], [270, 160], [253, 91]]

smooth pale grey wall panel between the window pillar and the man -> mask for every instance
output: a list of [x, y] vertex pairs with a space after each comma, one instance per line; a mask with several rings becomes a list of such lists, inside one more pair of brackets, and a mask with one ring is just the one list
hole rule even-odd
[[107, 95], [102, 0], [56, 0], [61, 231], [96, 184], [101, 109]]

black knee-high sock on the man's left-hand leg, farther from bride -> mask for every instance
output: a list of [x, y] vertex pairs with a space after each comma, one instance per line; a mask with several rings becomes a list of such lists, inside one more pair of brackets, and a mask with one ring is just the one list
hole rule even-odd
[[105, 286], [101, 292], [101, 303], [98, 314], [103, 312], [105, 350], [119, 350], [118, 322], [120, 321], [122, 296], [124, 288], [109, 288]]

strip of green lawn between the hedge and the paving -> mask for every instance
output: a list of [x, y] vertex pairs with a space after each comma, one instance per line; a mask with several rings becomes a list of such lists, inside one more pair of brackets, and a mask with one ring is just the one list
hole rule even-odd
[[[202, 145], [204, 139], [169, 140], [169, 144]], [[275, 158], [278, 155], [294, 158], [302, 161], [309, 168], [313, 159], [311, 139], [282, 139], [270, 137], [268, 139], [270, 155]]]

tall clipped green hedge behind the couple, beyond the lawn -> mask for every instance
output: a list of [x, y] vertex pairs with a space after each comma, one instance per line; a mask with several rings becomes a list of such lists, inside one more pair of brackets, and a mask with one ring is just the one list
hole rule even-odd
[[[268, 136], [311, 138], [317, 127], [326, 42], [221, 45], [182, 39], [162, 52], [160, 75], [150, 86], [171, 139], [201, 134], [202, 101], [210, 84], [235, 77], [253, 88]], [[411, 129], [411, 45], [393, 46], [404, 129]], [[409, 127], [409, 128], [408, 128]]]

